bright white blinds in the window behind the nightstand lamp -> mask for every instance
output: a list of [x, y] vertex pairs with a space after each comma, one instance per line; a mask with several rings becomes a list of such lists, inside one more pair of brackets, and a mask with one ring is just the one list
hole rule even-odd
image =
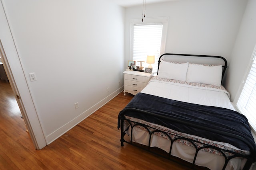
[[[146, 63], [147, 55], [155, 55], [155, 63], [152, 64], [152, 72], [157, 72], [162, 40], [162, 29], [162, 23], [134, 25], [133, 60], [145, 61], [143, 66], [147, 67], [149, 65]], [[136, 66], [139, 65], [140, 64], [136, 62]]]

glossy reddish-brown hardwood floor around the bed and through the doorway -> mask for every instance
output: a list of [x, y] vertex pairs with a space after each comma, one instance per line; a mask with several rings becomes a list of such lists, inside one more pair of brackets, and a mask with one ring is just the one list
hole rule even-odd
[[132, 95], [120, 93], [59, 139], [35, 150], [10, 84], [0, 81], [0, 169], [190, 170], [127, 143], [120, 146], [117, 117]]

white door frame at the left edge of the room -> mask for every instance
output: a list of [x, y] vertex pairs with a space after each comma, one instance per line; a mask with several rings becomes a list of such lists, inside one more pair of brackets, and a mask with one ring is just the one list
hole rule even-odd
[[2, 0], [0, 4], [0, 23], [0, 55], [2, 63], [34, 147], [39, 150], [47, 145], [46, 138], [30, 94], [26, 74], [20, 62]]

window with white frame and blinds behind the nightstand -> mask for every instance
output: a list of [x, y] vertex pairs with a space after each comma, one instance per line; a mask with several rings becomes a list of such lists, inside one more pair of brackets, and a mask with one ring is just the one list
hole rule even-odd
[[157, 72], [158, 59], [164, 53], [167, 33], [168, 17], [132, 20], [131, 22], [131, 60], [137, 61], [136, 66], [140, 66], [138, 61], [145, 61], [142, 66], [145, 68], [147, 55], [155, 56], [155, 63], [152, 64], [153, 71]]

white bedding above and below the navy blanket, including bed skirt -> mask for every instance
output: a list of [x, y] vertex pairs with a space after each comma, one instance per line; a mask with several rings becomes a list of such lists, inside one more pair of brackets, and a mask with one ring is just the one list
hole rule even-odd
[[[200, 104], [205, 106], [224, 107], [227, 109], [235, 110], [232, 106], [229, 93], [223, 86], [212, 86], [207, 84], [184, 82], [179, 80], [171, 80], [166, 78], [153, 77], [148, 85], [141, 91], [141, 93], [151, 94], [154, 96], [160, 96], [172, 100], [178, 100], [181, 102], [189, 102], [193, 104]], [[142, 120], [136, 120], [131, 118], [132, 121], [142, 122]], [[148, 123], [145, 122], [144, 123]], [[150, 123], [152, 124], [152, 123]], [[173, 131], [160, 125], [152, 124], [154, 127], [158, 127], [164, 131]], [[129, 129], [130, 130], [130, 129]], [[131, 132], [129, 132], [131, 133]], [[194, 135], [184, 134], [185, 136], [195, 137]], [[237, 152], [248, 153], [248, 151], [242, 151], [228, 143], [214, 142], [208, 139], [197, 137], [199, 140], [208, 141], [209, 143], [216, 143], [216, 145], [223, 145], [223, 147], [229, 147]], [[148, 145], [149, 135], [143, 130], [143, 128], [134, 127], [132, 139], [136, 143], [142, 145]], [[158, 147], [166, 152], [170, 150], [171, 141], [161, 137], [160, 134], [152, 136], [150, 146]], [[184, 150], [186, 152], [184, 152]], [[183, 142], [175, 142], [172, 147], [172, 155], [182, 158], [188, 162], [193, 162], [195, 149], [190, 145], [186, 145]], [[233, 158], [229, 161], [226, 170], [240, 170], [244, 166], [246, 159]], [[199, 166], [206, 166], [211, 170], [219, 170], [224, 165], [224, 157], [219, 156], [218, 153], [212, 154], [210, 152], [204, 152], [200, 150], [196, 159], [196, 164]]]

